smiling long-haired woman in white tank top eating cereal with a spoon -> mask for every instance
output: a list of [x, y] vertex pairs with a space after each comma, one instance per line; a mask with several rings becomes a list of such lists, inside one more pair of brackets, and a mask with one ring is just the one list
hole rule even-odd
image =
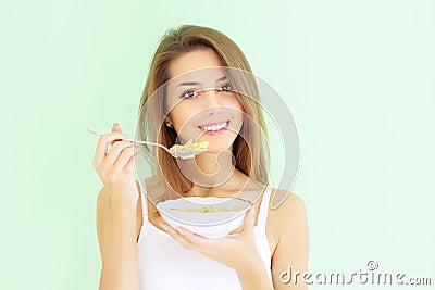
[[[307, 270], [307, 215], [294, 193], [270, 210], [271, 196], [287, 192], [266, 188], [258, 138], [258, 130], [265, 127], [256, 89], [249, 91], [251, 98], [240, 97], [231, 73], [216, 75], [213, 90], [177, 83], [210, 67], [251, 71], [239, 48], [214, 29], [182, 26], [170, 30], [154, 54], [139, 108], [142, 139], [167, 147], [191, 136], [198, 142], [209, 141], [209, 151], [195, 157], [194, 169], [162, 151], [144, 149], [154, 175], [137, 181], [134, 159], [141, 151], [120, 140], [126, 137], [120, 125], [113, 124], [112, 131], [98, 141], [94, 167], [104, 184], [97, 200], [100, 289], [307, 289], [300, 277], [297, 282], [283, 282], [289, 267], [293, 273]], [[226, 72], [221, 68], [207, 75]], [[247, 79], [241, 83], [249, 84]], [[202, 175], [189, 178], [184, 166]], [[222, 177], [217, 172], [229, 174]], [[241, 191], [259, 198], [235, 235], [221, 239], [172, 228], [153, 205], [171, 194], [228, 197]]]

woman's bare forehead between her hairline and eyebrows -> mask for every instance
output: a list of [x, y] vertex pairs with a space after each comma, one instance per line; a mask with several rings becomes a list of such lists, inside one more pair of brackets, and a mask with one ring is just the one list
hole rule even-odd
[[191, 71], [210, 66], [222, 66], [217, 53], [212, 49], [198, 49], [183, 53], [170, 63], [170, 78], [175, 78]]

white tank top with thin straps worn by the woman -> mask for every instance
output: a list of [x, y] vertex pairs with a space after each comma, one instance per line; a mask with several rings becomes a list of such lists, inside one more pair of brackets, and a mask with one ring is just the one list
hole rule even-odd
[[[271, 277], [271, 250], [265, 235], [271, 188], [264, 190], [257, 226], [257, 249]], [[199, 252], [186, 250], [148, 220], [147, 198], [141, 192], [144, 223], [137, 243], [141, 290], [241, 290], [236, 272]]]

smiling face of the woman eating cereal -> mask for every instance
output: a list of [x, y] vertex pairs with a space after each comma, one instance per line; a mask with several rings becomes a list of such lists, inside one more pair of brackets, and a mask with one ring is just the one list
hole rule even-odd
[[244, 119], [244, 109], [217, 54], [198, 49], [171, 61], [166, 87], [166, 122], [181, 142], [209, 141], [209, 152], [231, 150]]

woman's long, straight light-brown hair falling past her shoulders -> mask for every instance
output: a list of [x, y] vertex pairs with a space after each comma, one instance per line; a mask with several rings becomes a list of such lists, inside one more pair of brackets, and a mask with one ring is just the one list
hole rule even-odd
[[[175, 143], [176, 131], [174, 128], [165, 126], [164, 122], [162, 122], [167, 112], [165, 112], [164, 90], [159, 88], [170, 80], [169, 67], [171, 61], [183, 53], [198, 49], [213, 49], [223, 66], [251, 73], [251, 68], [241, 50], [224, 34], [212, 28], [194, 25], [183, 25], [167, 30], [152, 59], [140, 100], [137, 127], [140, 140], [159, 142], [167, 148]], [[268, 137], [266, 127], [260, 106], [257, 85], [252, 76], [246, 79], [245, 77], [244, 81], [247, 83], [245, 87], [249, 87], [247, 90], [249, 90], [250, 98], [239, 99], [245, 109], [245, 114], [256, 122], [258, 126], [252, 127], [249, 122], [244, 122], [240, 134], [233, 143], [233, 155], [237, 169], [253, 180], [266, 185], [268, 166], [261, 137], [261, 134], [264, 134], [265, 138]], [[156, 93], [160, 96], [156, 96]], [[248, 147], [247, 140], [251, 148], [254, 149], [252, 152]], [[165, 185], [165, 180], [172, 190], [178, 194], [183, 194], [191, 188], [192, 181], [183, 175], [174, 157], [160, 148], [146, 147], [142, 150], [146, 152], [148, 161], [152, 164], [154, 177], [160, 179], [159, 182], [161, 185]], [[167, 193], [170, 192], [163, 192], [163, 194]]]

